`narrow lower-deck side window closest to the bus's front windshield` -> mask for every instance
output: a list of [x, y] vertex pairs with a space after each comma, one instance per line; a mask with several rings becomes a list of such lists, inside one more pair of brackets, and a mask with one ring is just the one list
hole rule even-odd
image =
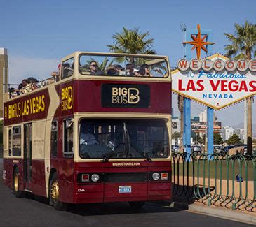
[[72, 158], [74, 155], [74, 140], [73, 140], [73, 121], [72, 119], [67, 119], [64, 121], [64, 149], [63, 156], [67, 158]]

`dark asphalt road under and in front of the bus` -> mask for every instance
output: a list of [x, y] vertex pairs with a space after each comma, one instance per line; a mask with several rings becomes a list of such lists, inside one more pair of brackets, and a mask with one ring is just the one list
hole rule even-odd
[[[0, 159], [0, 170], [2, 168]], [[1, 172], [0, 172], [1, 173]], [[43, 198], [15, 198], [0, 180], [0, 226], [249, 226], [147, 203], [135, 211], [126, 203], [76, 205], [55, 211]]]

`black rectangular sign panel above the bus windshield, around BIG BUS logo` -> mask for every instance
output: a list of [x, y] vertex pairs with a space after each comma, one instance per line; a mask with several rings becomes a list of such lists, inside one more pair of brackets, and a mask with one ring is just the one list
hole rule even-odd
[[101, 94], [103, 107], [147, 108], [150, 103], [147, 85], [103, 84]]

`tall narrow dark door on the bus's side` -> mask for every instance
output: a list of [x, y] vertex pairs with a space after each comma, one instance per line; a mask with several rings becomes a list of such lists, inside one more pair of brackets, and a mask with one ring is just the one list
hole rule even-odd
[[25, 189], [32, 189], [32, 123], [24, 125], [24, 180]]

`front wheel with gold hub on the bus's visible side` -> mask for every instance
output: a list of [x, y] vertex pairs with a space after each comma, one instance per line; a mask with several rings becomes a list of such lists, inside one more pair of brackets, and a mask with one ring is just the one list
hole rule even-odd
[[55, 210], [67, 210], [67, 203], [62, 203], [59, 200], [60, 198], [60, 184], [58, 181], [57, 173], [53, 173], [53, 177], [50, 180], [49, 185], [49, 202], [50, 205], [53, 205]]

